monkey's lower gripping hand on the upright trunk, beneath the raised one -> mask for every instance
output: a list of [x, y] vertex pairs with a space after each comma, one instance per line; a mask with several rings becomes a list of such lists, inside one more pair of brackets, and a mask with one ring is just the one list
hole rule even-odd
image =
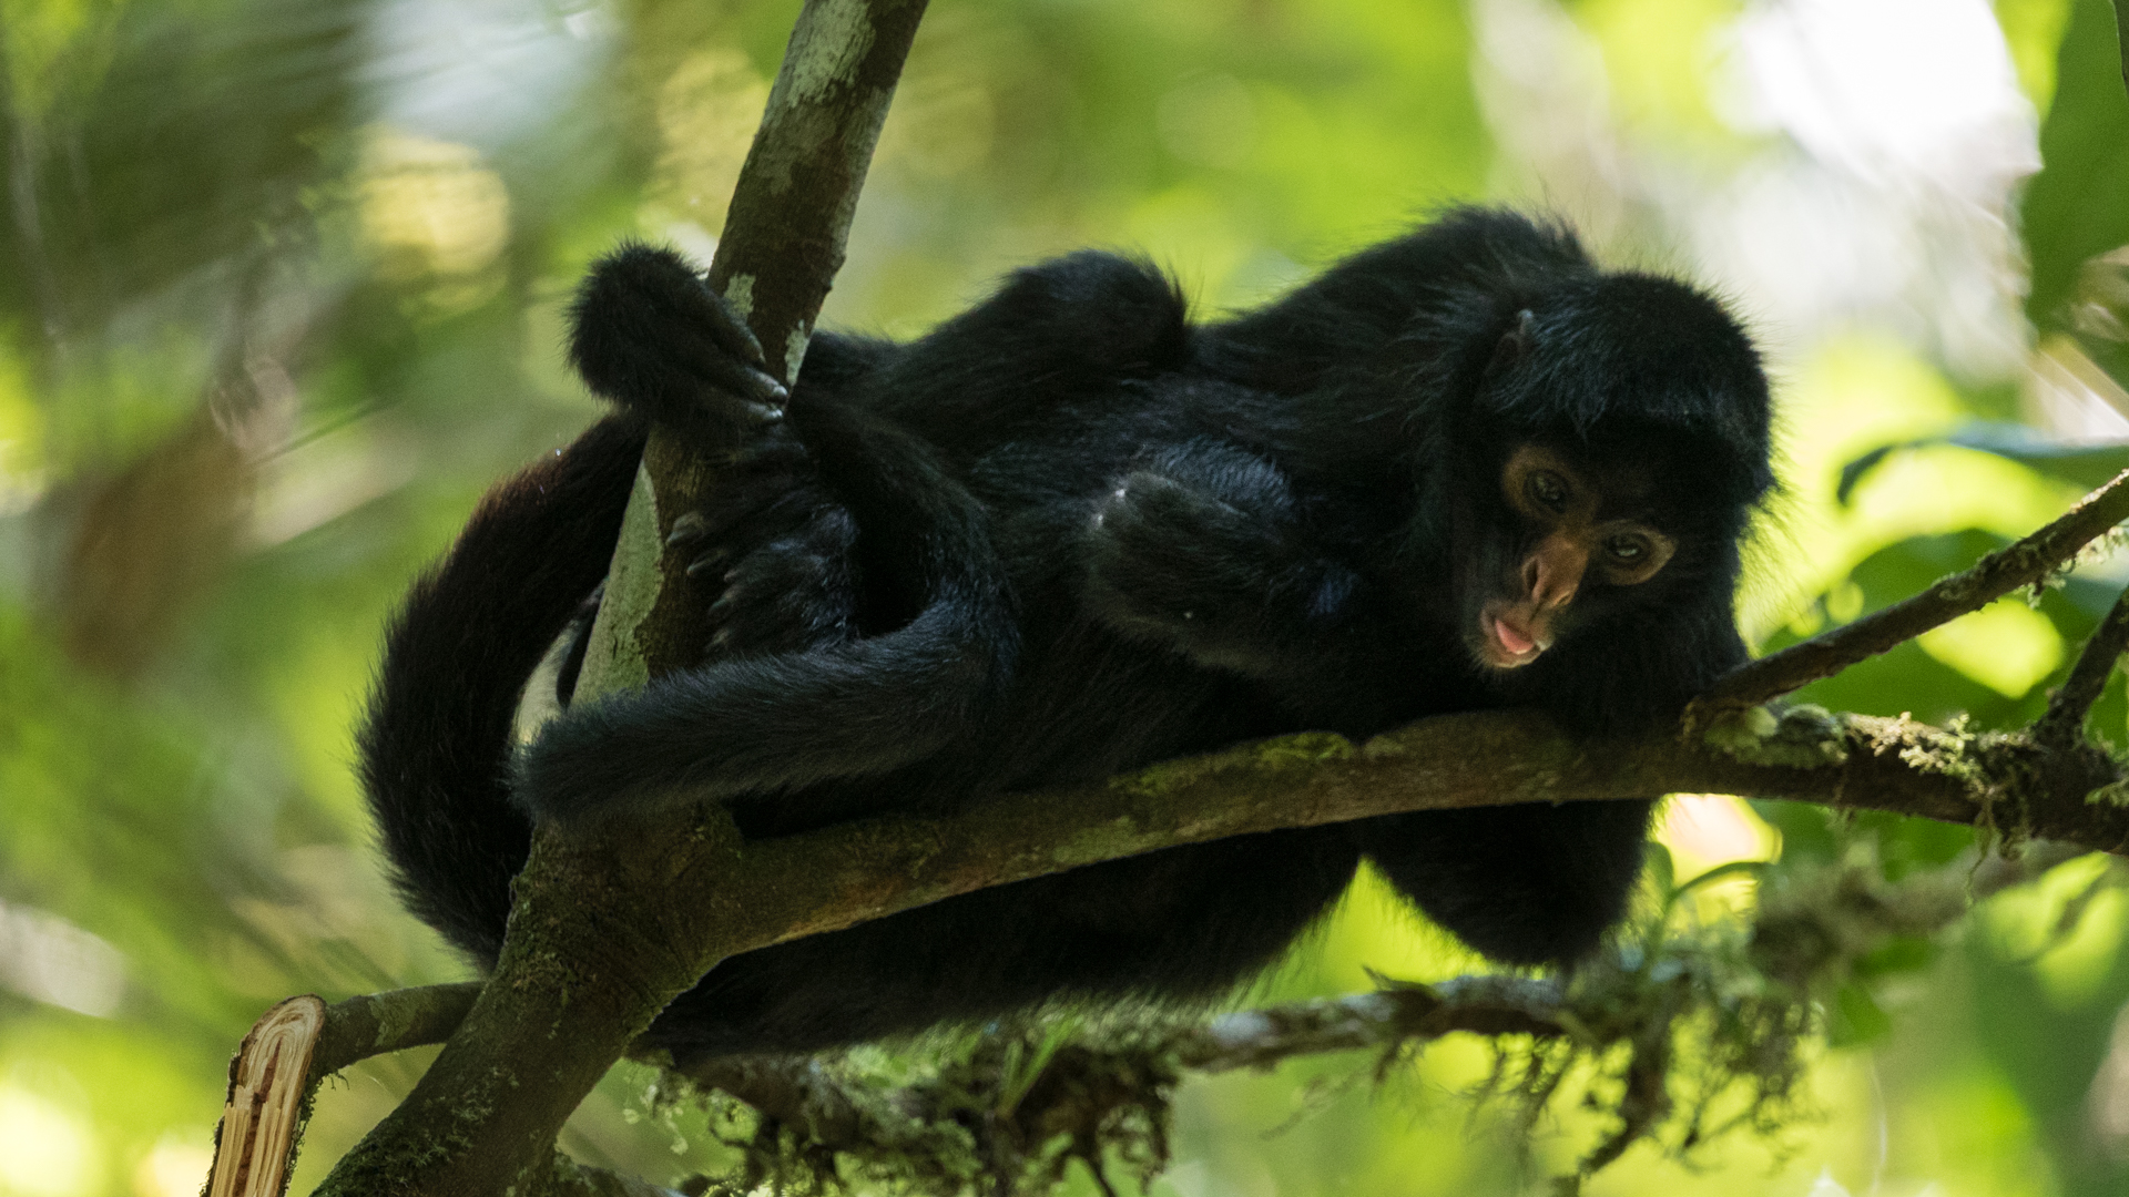
[[673, 524], [671, 543], [700, 545], [688, 575], [722, 588], [705, 654], [798, 652], [856, 635], [856, 541], [858, 524], [820, 486], [805, 447], [783, 428], [764, 432]]

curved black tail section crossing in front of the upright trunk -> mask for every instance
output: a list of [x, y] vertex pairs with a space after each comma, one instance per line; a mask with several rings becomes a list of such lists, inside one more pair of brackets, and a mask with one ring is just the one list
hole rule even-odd
[[517, 756], [519, 809], [764, 794], [901, 769], [975, 735], [1018, 656], [988, 511], [922, 437], [841, 403], [790, 409], [915, 618], [886, 635], [711, 662], [573, 707]]

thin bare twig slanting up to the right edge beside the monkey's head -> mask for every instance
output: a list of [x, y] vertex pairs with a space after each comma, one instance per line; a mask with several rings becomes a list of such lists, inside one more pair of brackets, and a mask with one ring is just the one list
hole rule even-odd
[[1833, 677], [1859, 660], [1978, 611], [2020, 586], [2033, 586], [2123, 520], [2129, 520], [2129, 471], [2080, 498], [2061, 520], [1984, 556], [1974, 569], [1954, 573], [1874, 616], [1733, 669], [1686, 707], [1686, 735], [1705, 731], [1724, 711], [1756, 707], [1820, 677]]

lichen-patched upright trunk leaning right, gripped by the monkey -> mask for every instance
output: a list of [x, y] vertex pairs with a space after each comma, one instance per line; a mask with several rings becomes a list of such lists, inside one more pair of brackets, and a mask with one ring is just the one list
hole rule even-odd
[[[924, 0], [807, 0], [792, 30], [711, 264], [711, 285], [747, 315], [769, 368], [786, 379], [796, 377], [843, 264], [922, 15]], [[700, 503], [711, 466], [730, 449], [651, 430], [579, 694], [694, 662], [705, 596], [679, 562], [662, 571], [660, 558], [673, 520]], [[675, 878], [722, 878], [720, 865], [739, 854], [730, 822], [715, 818], [658, 837], [656, 850], [630, 829], [539, 829], [494, 975], [415, 1091], [341, 1159], [321, 1197], [581, 1191], [585, 1171], [554, 1150], [562, 1122], [666, 1001], [745, 931], [745, 918], [720, 905], [722, 888], [698, 905], [711, 918], [705, 935], [675, 924], [679, 909], [647, 909], [643, 895], [671, 890]]]

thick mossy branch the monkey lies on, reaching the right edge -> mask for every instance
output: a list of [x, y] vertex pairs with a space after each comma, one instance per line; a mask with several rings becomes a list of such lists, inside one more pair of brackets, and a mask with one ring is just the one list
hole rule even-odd
[[[875, 818], [754, 841], [730, 856], [720, 848], [715, 867], [692, 863], [688, 848], [726, 843], [709, 807], [694, 824], [632, 826], [611, 839], [613, 850], [639, 854], [645, 843], [675, 843], [658, 860], [664, 880], [656, 927], [632, 931], [628, 941], [666, 937], [673, 950], [698, 958], [1177, 843], [1414, 809], [1727, 792], [1969, 826], [2018, 820], [2037, 839], [2125, 852], [2129, 807], [2086, 801], [2116, 780], [2112, 760], [2091, 745], [2040, 748], [1914, 720], [1805, 709], [1746, 743], [1707, 748], [1669, 735], [1590, 743], [1533, 711], [1480, 711], [1422, 720], [1360, 745], [1303, 733], [1094, 786], [1001, 794], [954, 818]], [[543, 839], [541, 852], [558, 858], [558, 841]], [[537, 875], [541, 865], [522, 888]], [[611, 897], [641, 905], [637, 895]], [[654, 918], [639, 914], [641, 922]], [[713, 950], [688, 948], [698, 944]], [[690, 969], [679, 969], [683, 984], [700, 975]], [[432, 986], [334, 1005], [315, 1073], [377, 1050], [439, 1042], [475, 988]], [[387, 1018], [385, 1010], [396, 1014]]]

